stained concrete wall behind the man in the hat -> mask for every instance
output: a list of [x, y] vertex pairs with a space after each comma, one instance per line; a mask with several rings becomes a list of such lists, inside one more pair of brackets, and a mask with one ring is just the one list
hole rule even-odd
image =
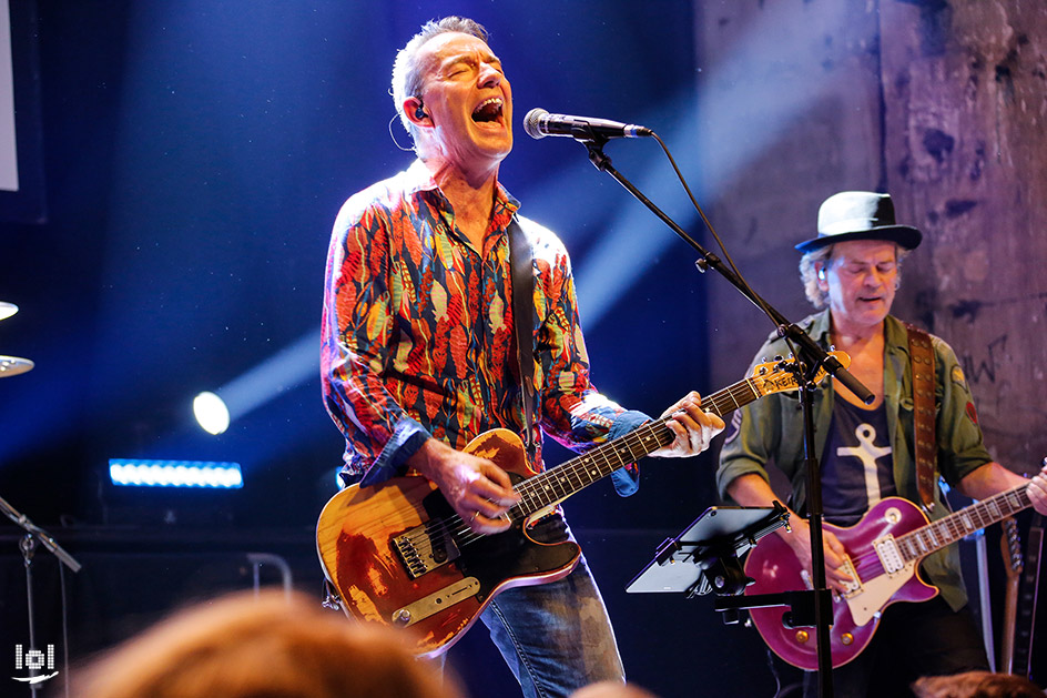
[[[1047, 8], [741, 0], [705, 4], [698, 30], [705, 201], [752, 285], [805, 315], [792, 245], [814, 235], [821, 201], [890, 191], [925, 234], [895, 314], [956, 348], [990, 452], [1031, 472], [1047, 455]], [[754, 140], [744, 162], [721, 153]], [[721, 384], [771, 327], [725, 282], [708, 284]]]

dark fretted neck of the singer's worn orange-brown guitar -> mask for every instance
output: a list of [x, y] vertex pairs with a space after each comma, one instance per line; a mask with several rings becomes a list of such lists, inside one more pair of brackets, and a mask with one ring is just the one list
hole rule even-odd
[[[702, 398], [702, 406], [716, 416], [734, 412], [764, 395], [758, 385], [745, 378]], [[667, 425], [669, 417], [653, 419], [639, 428], [597, 446], [583, 455], [524, 480], [517, 486], [522, 497], [510, 510], [514, 519], [526, 518], [556, 505], [614, 471], [668, 446], [675, 434]]]

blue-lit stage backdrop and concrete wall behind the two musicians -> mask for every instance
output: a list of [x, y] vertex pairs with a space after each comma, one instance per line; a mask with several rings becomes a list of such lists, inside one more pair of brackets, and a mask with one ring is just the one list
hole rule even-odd
[[[792, 317], [810, 311], [792, 245], [813, 235], [819, 203], [890, 190], [925, 234], [898, 314], [956, 347], [1000, 462], [1031, 472], [1047, 455], [1038, 3], [12, 6], [14, 94], [39, 117], [19, 156], [42, 168], [32, 191], [0, 201], [0, 301], [21, 308], [0, 323], [0, 354], [37, 364], [0, 381], [0, 495], [84, 563], [67, 578], [74, 657], [251, 586], [250, 553], [281, 556], [318, 596], [312, 528], [343, 448], [317, 375], [328, 234], [349, 194], [409, 163], [389, 136], [393, 57], [447, 13], [488, 27], [512, 81], [516, 146], [501, 178], [571, 251], [603, 392], [657, 414], [743, 377], [771, 327], [697, 273], [694, 253], [583, 148], [527, 138], [520, 121], [535, 107], [658, 131], [753, 286]], [[712, 246], [653, 142], [607, 153]], [[255, 406], [205, 434], [193, 396], [238, 380]], [[235, 461], [245, 486], [121, 490], [111, 457]], [[602, 483], [567, 510], [632, 680], [667, 697], [772, 695], [759, 638], [723, 626], [711, 599], [623, 593], [658, 544], [715, 502], [714, 464], [650, 462], [636, 496]], [[17, 530], [0, 538], [0, 656], [28, 639]], [[35, 559], [40, 639], [61, 643], [55, 566]], [[511, 695], [482, 635], [453, 661], [474, 695]]]

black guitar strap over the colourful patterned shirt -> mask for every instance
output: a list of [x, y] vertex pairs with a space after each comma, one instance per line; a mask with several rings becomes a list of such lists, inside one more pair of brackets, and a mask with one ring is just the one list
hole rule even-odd
[[516, 335], [517, 365], [524, 387], [524, 445], [535, 465], [535, 273], [530, 245], [516, 215], [509, 221], [509, 269], [512, 275], [512, 332]]

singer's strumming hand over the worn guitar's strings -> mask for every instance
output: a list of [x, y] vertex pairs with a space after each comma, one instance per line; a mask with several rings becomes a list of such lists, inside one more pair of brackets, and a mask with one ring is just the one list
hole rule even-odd
[[509, 528], [505, 514], [520, 495], [512, 489], [506, 472], [492, 462], [430, 438], [407, 459], [407, 465], [433, 480], [472, 530], [490, 534]]

